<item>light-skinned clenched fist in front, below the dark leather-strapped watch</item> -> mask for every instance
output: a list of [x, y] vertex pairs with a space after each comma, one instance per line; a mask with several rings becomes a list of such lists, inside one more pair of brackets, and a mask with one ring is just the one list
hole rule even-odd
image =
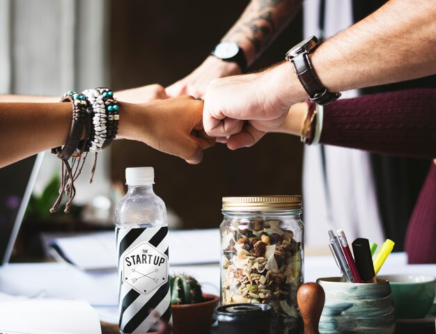
[[302, 93], [281, 93], [286, 93], [281, 78], [288, 74], [277, 74], [278, 68], [212, 81], [205, 93], [205, 132], [221, 137], [232, 150], [254, 145], [267, 132], [279, 132]]

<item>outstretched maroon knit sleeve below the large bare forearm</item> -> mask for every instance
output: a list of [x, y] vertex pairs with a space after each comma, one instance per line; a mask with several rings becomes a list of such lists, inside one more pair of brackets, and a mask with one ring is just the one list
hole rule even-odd
[[436, 89], [398, 90], [324, 107], [320, 143], [436, 158]]

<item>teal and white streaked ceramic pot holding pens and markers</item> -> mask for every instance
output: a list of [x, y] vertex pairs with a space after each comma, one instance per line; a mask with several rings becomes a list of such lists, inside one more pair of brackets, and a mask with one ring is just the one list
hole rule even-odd
[[320, 333], [394, 333], [396, 328], [391, 287], [377, 283], [341, 283], [339, 277], [316, 280], [325, 292]]

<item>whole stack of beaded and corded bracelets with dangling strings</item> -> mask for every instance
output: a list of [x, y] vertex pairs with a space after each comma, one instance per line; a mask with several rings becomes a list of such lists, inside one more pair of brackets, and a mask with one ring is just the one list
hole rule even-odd
[[[69, 196], [64, 210], [65, 212], [69, 211], [76, 193], [74, 182], [81, 173], [87, 152], [95, 152], [89, 180], [91, 183], [97, 162], [97, 153], [107, 148], [118, 132], [118, 104], [114, 98], [114, 93], [109, 88], [84, 90], [82, 94], [70, 90], [61, 98], [61, 102], [67, 101], [72, 102], [73, 106], [72, 127], [70, 136], [63, 148], [52, 149], [56, 157], [62, 160], [62, 175], [59, 197], [50, 212], [55, 212], [59, 207], [63, 193]], [[83, 134], [85, 134], [85, 138], [81, 141]], [[84, 152], [86, 153], [81, 160]], [[70, 157], [73, 158], [71, 166], [68, 163]]]

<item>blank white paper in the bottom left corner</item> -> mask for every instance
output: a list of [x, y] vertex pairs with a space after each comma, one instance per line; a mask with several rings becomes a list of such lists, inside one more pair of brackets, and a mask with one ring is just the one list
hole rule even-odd
[[102, 333], [97, 312], [85, 301], [0, 301], [0, 315], [0, 330], [3, 333]]

